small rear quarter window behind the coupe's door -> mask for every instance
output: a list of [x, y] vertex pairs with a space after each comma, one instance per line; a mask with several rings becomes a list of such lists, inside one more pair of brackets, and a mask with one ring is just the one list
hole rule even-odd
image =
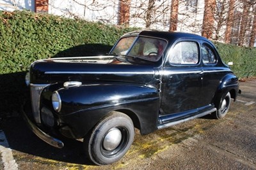
[[202, 46], [202, 58], [204, 64], [214, 64], [217, 61], [216, 55], [214, 55], [211, 47], [206, 44]]

